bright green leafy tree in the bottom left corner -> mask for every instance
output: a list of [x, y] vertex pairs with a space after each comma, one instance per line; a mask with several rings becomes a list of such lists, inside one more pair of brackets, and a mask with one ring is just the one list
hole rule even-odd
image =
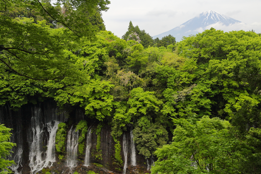
[[8, 166], [15, 164], [12, 160], [7, 160], [7, 157], [10, 156], [11, 149], [16, 146], [15, 143], [10, 142], [10, 128], [0, 124], [0, 173], [12, 173]]

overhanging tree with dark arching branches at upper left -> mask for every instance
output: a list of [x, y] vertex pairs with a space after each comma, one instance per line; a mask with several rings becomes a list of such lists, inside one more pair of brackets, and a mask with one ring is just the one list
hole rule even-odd
[[[1, 66], [33, 80], [59, 81], [71, 76], [77, 68], [72, 66], [75, 60], [72, 60], [67, 51], [74, 49], [81, 37], [94, 37], [98, 28], [92, 25], [88, 15], [107, 10], [106, 5], [109, 3], [107, 0], [58, 0], [52, 6], [49, 1], [37, 0], [1, 2]], [[57, 9], [62, 4], [61, 13]], [[34, 18], [26, 17], [12, 19], [10, 16], [18, 7], [34, 9], [42, 20], [35, 21]], [[46, 25], [50, 18], [61, 28], [51, 29], [50, 25]]]

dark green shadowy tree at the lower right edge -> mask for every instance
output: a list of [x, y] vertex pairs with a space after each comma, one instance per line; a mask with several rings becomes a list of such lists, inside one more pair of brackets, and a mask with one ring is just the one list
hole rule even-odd
[[[239, 170], [242, 173], [261, 172], [261, 108], [245, 101], [242, 109], [232, 117], [231, 129], [244, 148], [240, 149]], [[245, 149], [245, 151], [243, 151]]]

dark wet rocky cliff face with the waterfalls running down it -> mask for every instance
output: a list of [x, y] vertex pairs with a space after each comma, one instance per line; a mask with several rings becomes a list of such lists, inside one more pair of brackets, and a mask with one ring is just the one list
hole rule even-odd
[[[88, 132], [84, 139], [84, 153], [79, 155], [80, 133], [75, 131], [75, 125], [81, 120], [87, 121]], [[68, 125], [65, 153], [58, 153], [55, 148], [55, 136], [61, 122]], [[145, 160], [135, 149], [131, 126], [120, 138], [123, 163], [117, 163], [110, 126], [103, 123], [97, 135], [99, 121], [87, 118], [81, 108], [75, 107], [70, 113], [58, 113], [54, 101], [27, 104], [18, 111], [5, 105], [0, 107], [0, 123], [13, 129], [11, 141], [16, 143], [16, 147], [12, 149], [14, 153], [9, 159], [16, 163], [10, 167], [15, 174], [46, 171], [57, 174], [74, 171], [86, 173], [89, 170], [97, 173], [146, 173], [153, 163], [153, 158]], [[99, 151], [97, 142], [100, 142]]]

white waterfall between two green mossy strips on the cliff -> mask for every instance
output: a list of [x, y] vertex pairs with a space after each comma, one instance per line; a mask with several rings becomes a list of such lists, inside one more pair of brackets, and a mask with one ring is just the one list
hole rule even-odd
[[73, 125], [71, 129], [68, 132], [68, 138], [67, 138], [67, 160], [66, 164], [70, 167], [75, 167], [77, 165], [77, 152], [78, 152], [78, 139], [79, 139], [79, 131], [77, 130], [75, 132], [76, 128], [73, 128]]

